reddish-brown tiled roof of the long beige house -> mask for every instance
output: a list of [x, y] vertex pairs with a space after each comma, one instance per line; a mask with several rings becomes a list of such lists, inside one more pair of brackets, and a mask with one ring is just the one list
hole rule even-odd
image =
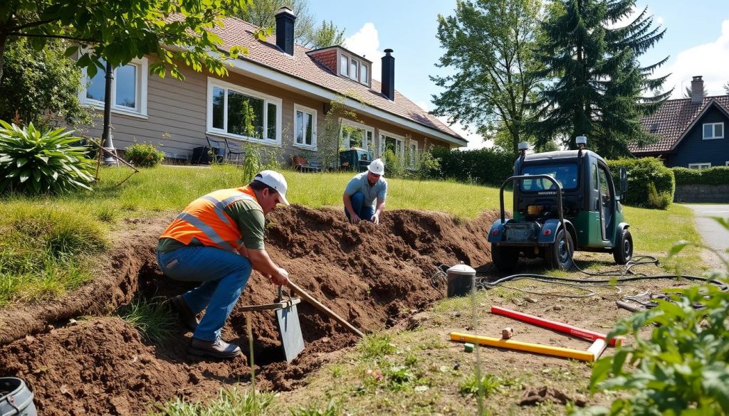
[[370, 106], [453, 136], [453, 138], [464, 141], [464, 146], [466, 145], [466, 140], [458, 133], [428, 114], [413, 101], [408, 100], [405, 95], [398, 93], [397, 90], [394, 101], [390, 101], [381, 93], [381, 84], [375, 79], [372, 80], [372, 88], [367, 87], [367, 85], [332, 73], [329, 68], [306, 54], [310, 51], [308, 48], [295, 45], [294, 55], [287, 55], [276, 46], [275, 35], [266, 36], [266, 41], [260, 42], [254, 37], [257, 26], [235, 17], [226, 17], [223, 19], [223, 23], [225, 23], [224, 28], [218, 27], [212, 31], [220, 36], [223, 41], [222, 49], [226, 51], [235, 45], [247, 47], [248, 55], [243, 55], [240, 59], [268, 66], [335, 93], [361, 98]]

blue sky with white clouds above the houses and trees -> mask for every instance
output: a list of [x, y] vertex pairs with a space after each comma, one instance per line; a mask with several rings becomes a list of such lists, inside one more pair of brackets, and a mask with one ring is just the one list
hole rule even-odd
[[[431, 95], [440, 93], [429, 76], [451, 71], [435, 66], [443, 55], [435, 37], [437, 15], [451, 15], [455, 7], [455, 0], [309, 0], [309, 12], [317, 20], [332, 20], [346, 28], [346, 47], [374, 62], [375, 79], [380, 79], [382, 51], [393, 49], [395, 88], [424, 109], [432, 109]], [[648, 7], [655, 23], [667, 29], [663, 40], [643, 55], [642, 63], [670, 56], [656, 74], [671, 74], [666, 89], [675, 87], [673, 98], [680, 98], [694, 75], [703, 76], [709, 95], [724, 94], [722, 85], [729, 81], [726, 0], [637, 1], [636, 7]], [[484, 146], [480, 137], [462, 126], [451, 127], [469, 139], [469, 148]]]

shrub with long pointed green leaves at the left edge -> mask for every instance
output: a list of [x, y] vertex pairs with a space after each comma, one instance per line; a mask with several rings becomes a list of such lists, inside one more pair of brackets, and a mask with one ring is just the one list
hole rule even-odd
[[0, 192], [39, 194], [91, 189], [93, 160], [73, 146], [73, 130], [20, 128], [0, 120]]

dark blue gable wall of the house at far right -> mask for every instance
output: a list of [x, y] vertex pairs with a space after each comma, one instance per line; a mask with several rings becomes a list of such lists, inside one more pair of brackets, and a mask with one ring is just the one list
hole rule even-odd
[[[724, 122], [724, 138], [703, 140], [703, 124], [714, 122]], [[666, 166], [688, 168], [689, 163], [706, 162], [711, 163], [712, 167], [726, 165], [729, 161], [727, 128], [729, 128], [729, 118], [715, 107], [709, 109], [666, 159]]]

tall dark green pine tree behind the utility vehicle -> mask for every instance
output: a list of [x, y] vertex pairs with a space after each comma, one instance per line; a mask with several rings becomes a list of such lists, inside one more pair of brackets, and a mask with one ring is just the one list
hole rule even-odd
[[[540, 120], [532, 125], [537, 144], [559, 139], [574, 149], [574, 138], [588, 136], [590, 149], [604, 157], [628, 154], [628, 143], [653, 139], [640, 124], [673, 90], [656, 93], [666, 76], [650, 75], [668, 58], [642, 67], [638, 57], [665, 34], [652, 28], [644, 9], [627, 25], [635, 0], [556, 0], [542, 24], [538, 73], [552, 83], [533, 103]], [[648, 95], [644, 95], [644, 94]]]

